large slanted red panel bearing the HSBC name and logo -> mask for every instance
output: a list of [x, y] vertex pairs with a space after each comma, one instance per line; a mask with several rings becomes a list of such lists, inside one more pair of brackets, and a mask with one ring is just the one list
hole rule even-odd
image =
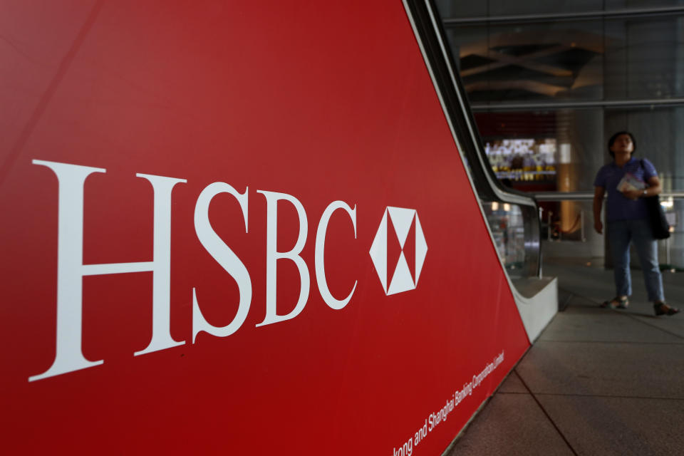
[[402, 2], [0, 30], [4, 452], [436, 455], [529, 346]]

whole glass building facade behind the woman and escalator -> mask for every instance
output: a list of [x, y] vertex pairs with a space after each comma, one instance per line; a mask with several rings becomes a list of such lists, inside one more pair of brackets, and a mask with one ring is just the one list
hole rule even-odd
[[[438, 0], [437, 7], [483, 148], [505, 185], [591, 192], [611, 160], [608, 138], [629, 130], [665, 192], [684, 191], [684, 0]], [[675, 222], [668, 257], [684, 266], [684, 200], [666, 203]], [[587, 204], [541, 206], [544, 237], [584, 239], [577, 252], [603, 257]]]

